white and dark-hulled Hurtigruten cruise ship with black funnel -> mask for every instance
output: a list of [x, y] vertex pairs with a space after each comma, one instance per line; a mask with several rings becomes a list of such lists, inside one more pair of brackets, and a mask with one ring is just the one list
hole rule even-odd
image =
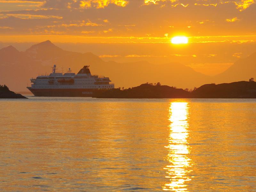
[[45, 97], [92, 97], [95, 92], [114, 89], [108, 77], [92, 75], [90, 66], [84, 66], [75, 74], [70, 68], [68, 72], [57, 73], [56, 65], [49, 76], [31, 78], [31, 87], [27, 87], [35, 96]]

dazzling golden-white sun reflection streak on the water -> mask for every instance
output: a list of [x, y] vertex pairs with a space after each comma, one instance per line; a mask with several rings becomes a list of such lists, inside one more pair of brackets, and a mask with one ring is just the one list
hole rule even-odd
[[187, 102], [172, 102], [169, 107], [170, 134], [167, 160], [169, 165], [164, 169], [170, 178], [163, 190], [187, 191], [187, 182], [191, 180], [188, 173], [192, 171], [192, 160], [188, 158], [190, 153], [188, 138], [189, 104]]

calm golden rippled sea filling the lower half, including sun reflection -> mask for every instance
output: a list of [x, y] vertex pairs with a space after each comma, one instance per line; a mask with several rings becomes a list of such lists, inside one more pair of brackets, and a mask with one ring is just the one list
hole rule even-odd
[[0, 191], [256, 191], [256, 100], [0, 100]]

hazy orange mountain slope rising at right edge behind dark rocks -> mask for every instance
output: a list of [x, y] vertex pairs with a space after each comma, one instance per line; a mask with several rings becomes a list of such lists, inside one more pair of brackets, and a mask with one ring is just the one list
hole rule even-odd
[[256, 77], [256, 52], [247, 58], [237, 60], [230, 68], [215, 76], [216, 83], [245, 81]]

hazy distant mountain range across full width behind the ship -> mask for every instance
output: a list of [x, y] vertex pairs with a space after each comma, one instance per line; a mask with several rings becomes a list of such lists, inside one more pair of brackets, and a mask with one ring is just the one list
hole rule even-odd
[[[249, 58], [249, 57], [248, 57]], [[246, 58], [247, 59], [247, 58]], [[103, 61], [93, 53], [78, 53], [65, 51], [51, 41], [32, 45], [25, 52], [19, 52], [13, 46], [0, 50], [0, 83], [8, 84], [15, 91], [26, 91], [29, 79], [41, 74], [50, 73], [51, 67], [56, 64], [58, 70], [66, 72], [67, 68], [75, 73], [84, 65], [90, 65], [91, 72], [97, 75], [108, 76], [115, 87], [133, 87], [146, 82], [161, 82], [180, 88], [193, 88], [202, 84], [232, 82], [248, 80], [253, 77], [252, 71], [256, 66], [256, 54], [252, 58], [238, 60], [226, 72], [215, 77], [207, 76], [180, 63], [151, 64], [147, 61], [117, 63]], [[250, 73], [248, 76], [240, 74], [241, 65], [248, 62]], [[236, 66], [237, 65], [237, 66]], [[235, 68], [235, 69], [232, 69]], [[239, 72], [238, 72], [239, 71]], [[255, 71], [255, 70], [254, 70]], [[236, 74], [234, 74], [236, 73]], [[226, 78], [230, 76], [230, 78]], [[232, 78], [231, 78], [232, 77]]]

